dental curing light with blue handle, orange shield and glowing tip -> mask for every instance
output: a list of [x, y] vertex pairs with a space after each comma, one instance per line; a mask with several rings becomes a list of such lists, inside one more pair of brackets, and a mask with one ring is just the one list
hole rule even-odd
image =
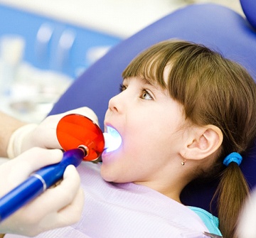
[[0, 222], [61, 180], [67, 166], [77, 167], [82, 160], [93, 161], [106, 146], [113, 151], [122, 141], [120, 136], [117, 139], [117, 131], [114, 132], [115, 136], [103, 135], [97, 124], [78, 114], [69, 114], [60, 119], [56, 131], [60, 146], [66, 151], [62, 161], [41, 168], [0, 198]]

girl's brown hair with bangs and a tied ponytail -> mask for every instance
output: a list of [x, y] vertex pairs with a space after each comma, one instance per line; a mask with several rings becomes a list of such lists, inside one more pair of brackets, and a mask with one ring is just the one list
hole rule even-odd
[[[167, 85], [166, 65], [171, 66]], [[223, 132], [223, 144], [210, 171], [222, 175], [216, 192], [220, 230], [223, 237], [234, 238], [248, 187], [238, 164], [230, 163], [223, 170], [223, 159], [231, 152], [244, 152], [255, 139], [256, 85], [252, 77], [219, 53], [182, 40], [166, 40], [141, 53], [123, 72], [124, 78], [134, 76], [167, 89], [193, 124], [213, 124]]]

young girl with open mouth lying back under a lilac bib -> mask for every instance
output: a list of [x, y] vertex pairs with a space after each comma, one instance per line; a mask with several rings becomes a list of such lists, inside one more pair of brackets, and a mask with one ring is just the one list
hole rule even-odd
[[[85, 190], [81, 221], [38, 237], [206, 237], [220, 231], [236, 237], [248, 193], [240, 154], [256, 134], [252, 77], [218, 53], [181, 40], [145, 50], [123, 77], [105, 116], [105, 130], [117, 130], [121, 146], [105, 151], [102, 164], [78, 168]], [[180, 194], [195, 179], [219, 175], [218, 226], [208, 212], [182, 205]]]

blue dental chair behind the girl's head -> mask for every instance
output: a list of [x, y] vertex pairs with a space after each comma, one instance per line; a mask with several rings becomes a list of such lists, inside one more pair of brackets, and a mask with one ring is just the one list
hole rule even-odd
[[[109, 99], [119, 92], [122, 71], [142, 50], [154, 43], [179, 38], [208, 46], [243, 65], [256, 80], [256, 1], [241, 0], [247, 18], [216, 4], [193, 4], [178, 9], [134, 36], [123, 40], [88, 68], [53, 107], [50, 114], [87, 106], [103, 126]], [[256, 185], [256, 144], [247, 151], [241, 168], [250, 184]], [[182, 195], [186, 205], [210, 210], [216, 184], [191, 188]], [[214, 213], [214, 211], [211, 211]]]

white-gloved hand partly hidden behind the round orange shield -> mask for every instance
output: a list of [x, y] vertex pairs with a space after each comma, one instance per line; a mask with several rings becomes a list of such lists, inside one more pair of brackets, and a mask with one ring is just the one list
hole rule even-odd
[[56, 136], [58, 121], [67, 114], [81, 114], [98, 124], [96, 114], [89, 107], [80, 107], [62, 114], [46, 117], [41, 124], [27, 124], [14, 131], [9, 141], [7, 154], [9, 158], [18, 156], [32, 147], [61, 148]]

